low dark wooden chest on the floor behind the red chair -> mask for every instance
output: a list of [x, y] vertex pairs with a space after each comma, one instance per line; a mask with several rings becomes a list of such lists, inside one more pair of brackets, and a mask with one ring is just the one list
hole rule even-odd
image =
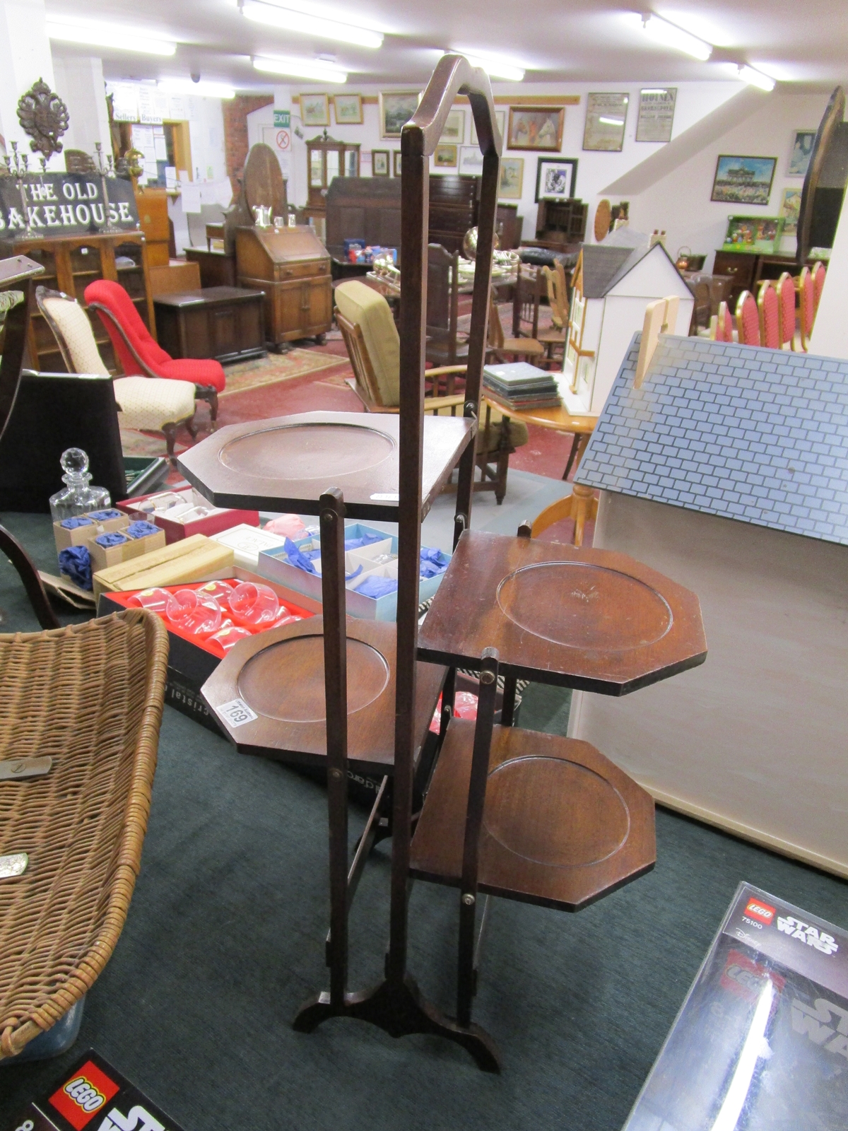
[[154, 300], [159, 344], [172, 357], [243, 361], [266, 353], [265, 292], [210, 286]]

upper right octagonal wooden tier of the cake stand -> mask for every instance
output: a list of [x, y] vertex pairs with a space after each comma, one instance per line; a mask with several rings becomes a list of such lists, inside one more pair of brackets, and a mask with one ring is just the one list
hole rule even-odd
[[418, 656], [622, 696], [702, 664], [698, 597], [625, 554], [466, 532], [418, 636]]

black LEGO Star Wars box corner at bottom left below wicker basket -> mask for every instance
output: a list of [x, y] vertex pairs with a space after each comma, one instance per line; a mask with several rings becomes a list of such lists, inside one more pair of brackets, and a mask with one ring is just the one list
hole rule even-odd
[[55, 1087], [2, 1131], [182, 1131], [133, 1083], [89, 1050]]

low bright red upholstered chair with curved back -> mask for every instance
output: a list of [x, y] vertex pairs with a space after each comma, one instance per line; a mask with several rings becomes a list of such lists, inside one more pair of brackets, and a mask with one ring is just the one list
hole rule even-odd
[[89, 283], [85, 290], [85, 301], [89, 310], [97, 311], [127, 377], [138, 374], [191, 381], [194, 396], [200, 400], [208, 400], [211, 418], [217, 418], [218, 394], [226, 383], [220, 362], [197, 357], [174, 361], [154, 342], [120, 283], [111, 279]]

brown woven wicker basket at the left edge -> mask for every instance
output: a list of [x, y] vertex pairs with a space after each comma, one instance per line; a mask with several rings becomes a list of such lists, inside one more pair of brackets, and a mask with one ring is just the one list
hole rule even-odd
[[[144, 610], [0, 636], [0, 1059], [92, 987], [123, 929], [150, 808], [167, 632]], [[9, 767], [15, 771], [15, 766]]]

